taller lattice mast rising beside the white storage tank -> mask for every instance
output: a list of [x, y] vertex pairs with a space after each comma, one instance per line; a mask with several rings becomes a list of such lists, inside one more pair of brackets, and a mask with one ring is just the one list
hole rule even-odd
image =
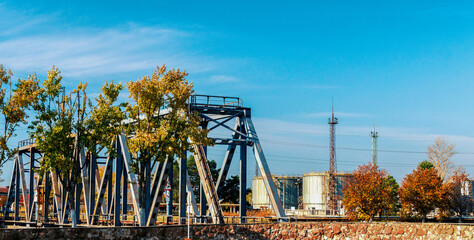
[[328, 179], [328, 200], [329, 209], [336, 211], [337, 208], [337, 182], [336, 182], [336, 124], [337, 118], [334, 117], [334, 104], [332, 106], [332, 115], [329, 118], [329, 179]]

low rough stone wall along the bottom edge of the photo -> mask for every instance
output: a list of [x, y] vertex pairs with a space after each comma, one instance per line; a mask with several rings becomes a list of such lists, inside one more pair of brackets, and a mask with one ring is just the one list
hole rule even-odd
[[[280, 223], [191, 226], [192, 239], [471, 239], [474, 225]], [[1, 229], [0, 239], [183, 239], [186, 226]]]

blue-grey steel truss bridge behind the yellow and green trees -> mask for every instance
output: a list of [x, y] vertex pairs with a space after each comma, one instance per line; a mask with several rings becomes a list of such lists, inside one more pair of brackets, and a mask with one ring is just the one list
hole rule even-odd
[[[267, 160], [252, 123], [251, 109], [244, 107], [242, 101], [235, 97], [193, 95], [189, 100], [189, 110], [201, 117], [201, 127], [211, 132], [218, 129], [230, 133], [229, 138], [212, 138], [216, 145], [226, 145], [224, 161], [216, 182], [213, 181], [207, 162], [207, 147], [194, 145], [194, 157], [200, 179], [200, 206], [196, 204], [191, 182], [187, 171], [187, 158], [179, 162], [179, 186], [171, 186], [170, 201], [162, 219], [172, 219], [172, 191], [179, 191], [179, 223], [186, 219], [187, 203], [191, 205], [194, 216], [202, 222], [212, 219], [215, 224], [223, 224], [223, 214], [219, 203], [219, 195], [229, 172], [231, 162], [237, 149], [240, 150], [240, 222], [246, 220], [246, 189], [247, 189], [247, 148], [252, 148], [258, 171], [263, 176], [272, 209], [277, 219], [285, 220], [285, 211], [277, 194], [271, 177]], [[234, 123], [233, 126], [229, 125]], [[151, 226], [157, 224], [159, 206], [163, 199], [167, 182], [173, 183], [173, 163], [170, 161], [154, 162], [148, 166], [146, 182], [146, 203], [140, 206], [138, 201], [137, 177], [130, 169], [132, 156], [127, 147], [127, 136], [116, 137], [114, 146], [117, 156], [95, 157], [82, 150], [81, 182], [75, 190], [77, 222], [87, 226], [112, 223], [114, 226], [124, 224], [140, 224]], [[185, 154], [186, 155], [186, 154]], [[32, 140], [19, 143], [14, 158], [8, 196], [4, 211], [4, 222], [7, 224], [68, 225], [68, 196], [62, 188], [58, 176], [48, 172], [39, 176], [34, 169], [38, 168], [42, 154]], [[103, 173], [99, 173], [103, 166]], [[257, 167], [256, 167], [257, 169]], [[28, 178], [25, 173], [28, 174]], [[187, 197], [187, 193], [190, 196]], [[130, 197], [131, 196], [131, 197]], [[129, 202], [131, 201], [131, 202]], [[52, 204], [52, 206], [50, 206]], [[131, 211], [129, 205], [132, 205]], [[80, 218], [80, 215], [83, 217]], [[84, 217], [85, 215], [85, 217]]]

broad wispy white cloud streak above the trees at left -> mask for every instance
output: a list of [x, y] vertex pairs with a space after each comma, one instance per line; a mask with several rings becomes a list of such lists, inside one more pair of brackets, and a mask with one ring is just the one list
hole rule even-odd
[[46, 71], [56, 64], [73, 77], [152, 69], [164, 62], [193, 72], [210, 70], [210, 59], [177, 51], [176, 43], [187, 37], [172, 29], [140, 26], [39, 34], [1, 41], [0, 61], [21, 71]]

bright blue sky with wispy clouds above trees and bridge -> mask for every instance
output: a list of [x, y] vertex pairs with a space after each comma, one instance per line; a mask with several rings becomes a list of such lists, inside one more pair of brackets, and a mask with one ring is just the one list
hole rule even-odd
[[276, 174], [328, 169], [333, 98], [339, 170], [370, 160], [375, 121], [379, 149], [395, 150], [379, 152], [379, 163], [396, 179], [437, 136], [456, 144], [453, 161], [474, 175], [473, 5], [3, 1], [0, 63], [42, 79], [54, 64], [69, 88], [87, 81], [92, 96], [106, 80], [136, 80], [156, 65], [185, 69], [197, 93], [252, 108]]

